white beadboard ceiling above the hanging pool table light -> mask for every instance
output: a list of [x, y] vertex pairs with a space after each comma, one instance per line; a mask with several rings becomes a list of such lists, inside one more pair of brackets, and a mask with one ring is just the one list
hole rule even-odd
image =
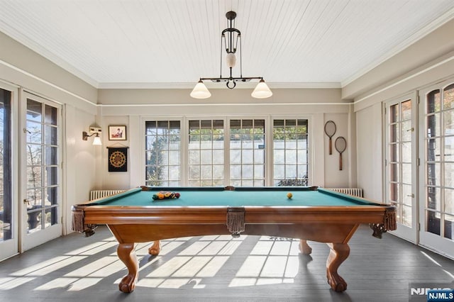
[[454, 18], [454, 1], [0, 0], [0, 30], [98, 88], [189, 88], [219, 76], [231, 10], [244, 77], [341, 87]]

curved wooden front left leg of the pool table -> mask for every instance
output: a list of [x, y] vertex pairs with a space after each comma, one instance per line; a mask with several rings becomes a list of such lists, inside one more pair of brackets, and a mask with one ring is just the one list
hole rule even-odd
[[134, 290], [135, 282], [138, 279], [138, 262], [137, 257], [135, 257], [134, 243], [120, 243], [116, 249], [118, 258], [126, 265], [128, 268], [128, 274], [121, 279], [120, 284], [118, 284], [118, 289], [123, 291], [123, 293], [131, 293]]

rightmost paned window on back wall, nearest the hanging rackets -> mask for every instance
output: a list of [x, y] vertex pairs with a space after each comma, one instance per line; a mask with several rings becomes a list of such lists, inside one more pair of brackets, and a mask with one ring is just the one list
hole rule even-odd
[[307, 120], [274, 120], [273, 186], [307, 186], [309, 172]]

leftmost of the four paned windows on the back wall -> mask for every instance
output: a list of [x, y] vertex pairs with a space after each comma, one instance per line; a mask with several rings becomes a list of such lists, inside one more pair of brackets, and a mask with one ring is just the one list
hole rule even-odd
[[180, 121], [145, 122], [145, 183], [180, 186]]

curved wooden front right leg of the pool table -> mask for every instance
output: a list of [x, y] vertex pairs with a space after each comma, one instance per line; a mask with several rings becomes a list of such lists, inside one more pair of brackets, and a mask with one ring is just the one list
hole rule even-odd
[[350, 255], [350, 247], [346, 243], [327, 243], [327, 245], [330, 248], [328, 259], [326, 260], [328, 284], [333, 291], [345, 291], [347, 282], [339, 276], [338, 268]]

